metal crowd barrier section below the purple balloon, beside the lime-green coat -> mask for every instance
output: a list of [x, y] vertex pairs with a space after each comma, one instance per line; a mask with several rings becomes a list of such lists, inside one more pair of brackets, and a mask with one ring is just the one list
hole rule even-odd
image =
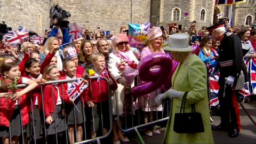
[[[137, 82], [138, 83], [138, 82]], [[166, 99], [163, 101], [162, 103], [162, 110], [157, 110], [157, 107], [154, 107], [153, 105], [156, 104], [155, 103], [155, 97], [160, 94], [160, 89], [157, 90], [158, 93], [151, 93], [151, 95], [154, 95], [153, 97], [154, 98], [151, 98], [152, 96], [149, 96], [149, 97], [145, 97], [145, 95], [142, 95], [142, 96], [139, 96], [137, 97], [136, 99], [133, 99], [133, 105], [134, 104], [138, 104], [140, 105], [140, 102], [145, 102], [143, 103], [145, 107], [149, 107], [149, 109], [147, 110], [146, 108], [143, 109], [144, 106], [139, 106], [138, 109], [134, 109], [134, 107], [132, 107], [132, 113], [131, 114], [127, 114], [127, 101], [124, 99], [124, 119], [121, 119], [123, 117], [120, 117], [118, 114], [119, 114], [119, 102], [118, 102], [118, 97], [120, 97], [120, 95], [116, 95], [115, 97], [115, 100], [116, 100], [116, 113], [117, 113], [117, 125], [119, 127], [119, 129], [121, 129], [123, 132], [127, 133], [127, 132], [130, 132], [130, 131], [135, 131], [140, 142], [141, 143], [145, 143], [138, 131], [139, 128], [141, 127], [147, 127], [149, 125], [155, 125], [157, 123], [161, 123], [161, 122], [164, 122], [164, 121], [167, 121], [167, 119], [169, 119], [169, 111], [170, 111], [170, 99]], [[156, 92], [156, 91], [155, 91]], [[117, 93], [115, 93], [117, 94]], [[125, 95], [125, 97], [133, 97], [132, 95]], [[133, 97], [134, 98], [134, 97]], [[141, 100], [142, 99], [142, 100]], [[129, 104], [128, 104], [129, 105]], [[153, 107], [151, 107], [153, 106]], [[161, 105], [160, 105], [161, 107]], [[152, 110], [154, 109], [154, 110]], [[158, 112], [159, 111], [159, 112]], [[141, 114], [142, 113], [142, 114]], [[148, 118], [147, 114], [150, 115], [150, 117]], [[160, 117], [158, 116], [160, 113]], [[155, 120], [153, 121], [153, 118], [154, 118], [154, 115], [155, 115]], [[138, 119], [134, 118], [137, 117]], [[142, 116], [142, 118], [141, 118]], [[141, 122], [141, 119], [144, 120], [144, 122]], [[146, 119], [150, 119], [149, 122], [145, 122]], [[124, 124], [123, 125], [120, 125], [119, 122], [123, 121], [124, 120]], [[130, 120], [130, 121], [129, 121]], [[143, 121], [142, 120], [142, 121]], [[131, 124], [130, 126], [128, 124]], [[165, 125], [163, 126], [165, 127]], [[154, 129], [154, 126], [153, 126], [153, 129]]]

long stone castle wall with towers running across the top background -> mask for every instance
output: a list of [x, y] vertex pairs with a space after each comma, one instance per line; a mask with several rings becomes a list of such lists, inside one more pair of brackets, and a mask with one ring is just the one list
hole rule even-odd
[[[92, 31], [100, 27], [102, 30], [110, 30], [117, 34], [121, 26], [127, 26], [131, 21], [149, 22], [150, 16], [153, 25], [157, 23], [159, 26], [166, 26], [167, 23], [178, 23], [182, 28], [188, 28], [191, 21], [195, 20], [197, 27], [201, 28], [213, 23], [214, 2], [215, 0], [0, 0], [0, 21], [5, 21], [13, 29], [25, 26], [42, 35], [45, 29], [49, 29], [51, 6], [59, 4], [62, 9], [71, 13], [68, 19], [70, 22], [77, 22]], [[233, 24], [244, 25], [246, 15], [255, 13], [255, 4], [256, 2], [247, 2], [234, 5]], [[181, 10], [180, 20], [172, 20], [172, 10], [175, 7]], [[225, 15], [224, 6], [218, 7], [222, 15]], [[202, 9], [206, 10], [206, 21], [199, 21]], [[187, 19], [184, 16], [185, 12], [189, 13]], [[255, 14], [252, 16], [255, 21]]]

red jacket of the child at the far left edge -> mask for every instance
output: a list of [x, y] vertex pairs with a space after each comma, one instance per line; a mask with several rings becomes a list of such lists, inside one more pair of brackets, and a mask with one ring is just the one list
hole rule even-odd
[[[21, 84], [20, 77], [17, 84]], [[1, 78], [3, 80], [3, 78]], [[5, 83], [11, 83], [9, 79], [5, 79]], [[22, 89], [18, 89], [17, 91], [21, 91]], [[0, 92], [10, 92], [11, 90], [1, 90]], [[18, 105], [21, 109], [21, 117], [22, 117], [22, 125], [25, 126], [29, 122], [29, 114], [28, 114], [28, 103], [27, 103], [27, 94], [21, 95], [21, 97], [18, 99]], [[11, 99], [7, 98], [0, 98], [0, 126], [10, 126], [10, 121], [12, 119], [13, 111], [15, 107], [15, 102]]]

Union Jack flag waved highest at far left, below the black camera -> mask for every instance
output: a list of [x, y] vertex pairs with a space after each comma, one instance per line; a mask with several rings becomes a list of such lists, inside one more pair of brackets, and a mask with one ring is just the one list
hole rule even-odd
[[28, 30], [25, 29], [24, 27], [19, 27], [18, 30], [10, 31], [4, 36], [11, 46], [21, 44], [22, 42], [26, 41], [26, 39], [29, 37]]

